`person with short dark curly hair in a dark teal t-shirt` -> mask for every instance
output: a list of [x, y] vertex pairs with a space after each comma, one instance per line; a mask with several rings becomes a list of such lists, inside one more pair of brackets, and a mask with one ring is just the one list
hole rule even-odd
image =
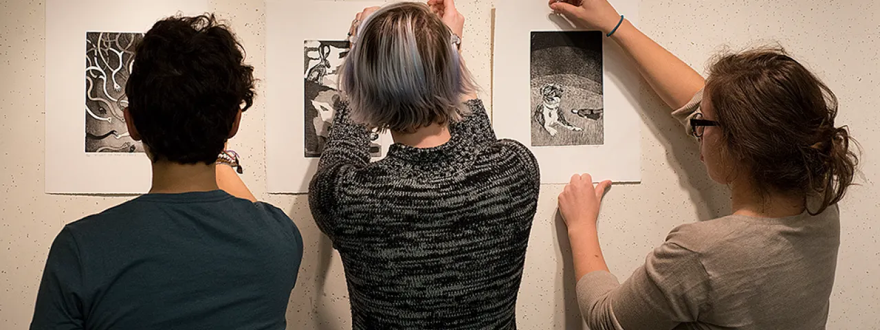
[[152, 187], [62, 229], [32, 329], [285, 328], [303, 239], [224, 151], [253, 104], [243, 60], [214, 15], [165, 18], [143, 36], [125, 119]]

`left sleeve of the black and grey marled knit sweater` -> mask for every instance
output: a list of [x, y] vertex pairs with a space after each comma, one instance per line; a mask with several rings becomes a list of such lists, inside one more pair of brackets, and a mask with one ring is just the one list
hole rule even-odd
[[348, 104], [337, 103], [334, 122], [309, 184], [309, 207], [318, 227], [334, 238], [333, 210], [343, 178], [370, 164], [370, 131], [351, 121]]

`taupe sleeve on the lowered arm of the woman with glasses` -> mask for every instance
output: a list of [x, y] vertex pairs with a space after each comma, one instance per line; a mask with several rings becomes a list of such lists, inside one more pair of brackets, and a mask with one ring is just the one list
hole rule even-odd
[[699, 254], [668, 241], [623, 284], [606, 271], [577, 282], [578, 304], [592, 330], [672, 329], [707, 312], [708, 295]]

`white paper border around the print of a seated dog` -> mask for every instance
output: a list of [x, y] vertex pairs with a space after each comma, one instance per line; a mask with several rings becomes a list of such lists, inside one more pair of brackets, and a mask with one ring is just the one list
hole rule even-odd
[[[636, 0], [614, 0], [612, 4], [636, 24]], [[539, 161], [541, 183], [568, 183], [572, 174], [585, 172], [596, 180], [639, 182], [642, 120], [635, 109], [642, 78], [622, 49], [607, 38], [603, 44], [605, 144], [531, 147], [531, 33], [576, 30], [554, 14], [546, 1], [504, 0], [495, 4], [495, 133], [530, 145]]]

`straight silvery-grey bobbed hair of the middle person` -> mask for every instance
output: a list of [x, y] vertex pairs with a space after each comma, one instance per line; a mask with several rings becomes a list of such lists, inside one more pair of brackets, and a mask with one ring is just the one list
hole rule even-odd
[[462, 95], [476, 87], [452, 35], [426, 4], [391, 4], [366, 18], [340, 74], [352, 120], [407, 133], [458, 121]]

